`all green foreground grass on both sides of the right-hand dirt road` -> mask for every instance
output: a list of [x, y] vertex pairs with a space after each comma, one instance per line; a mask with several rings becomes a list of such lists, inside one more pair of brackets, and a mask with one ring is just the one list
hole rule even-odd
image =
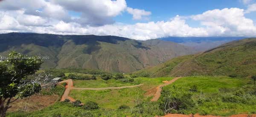
[[[256, 113], [256, 96], [248, 94], [248, 92], [252, 91], [252, 81], [246, 78], [231, 78], [227, 76], [180, 78], [173, 84], [163, 87], [160, 99], [157, 102], [151, 102], [152, 95], [146, 95], [146, 92], [163, 84], [162, 81], [170, 81], [171, 79], [173, 78], [139, 77], [134, 78], [133, 83], [122, 83], [115, 79], [103, 81], [101, 78], [97, 78], [97, 80], [77, 80], [74, 82], [75, 86], [84, 88], [144, 85], [125, 89], [72, 90], [70, 92], [70, 97], [81, 100], [82, 103], [88, 101], [98, 103], [100, 109], [96, 110], [85, 110], [82, 107], [72, 106], [71, 103], [57, 102], [40, 111], [9, 113], [8, 117], [57, 117], [59, 115], [64, 117], [124, 117], [127, 115], [131, 117], [153, 117], [155, 115], [164, 115], [160, 103], [163, 102], [163, 97], [169, 96], [166, 92], [171, 91], [192, 95], [190, 99], [193, 101], [193, 106], [184, 110], [173, 111], [175, 113], [221, 116]], [[194, 85], [197, 87], [197, 91], [192, 92], [190, 89]], [[243, 95], [241, 96], [240, 93]], [[129, 106], [130, 109], [118, 109], [121, 105]]]

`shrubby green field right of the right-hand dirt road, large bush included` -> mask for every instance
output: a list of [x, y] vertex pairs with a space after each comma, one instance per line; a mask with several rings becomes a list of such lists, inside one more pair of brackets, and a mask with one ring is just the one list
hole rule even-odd
[[[221, 116], [244, 112], [256, 114], [256, 87], [250, 79], [184, 77], [165, 86], [159, 102], [165, 113]], [[166, 102], [171, 103], [166, 105]]]

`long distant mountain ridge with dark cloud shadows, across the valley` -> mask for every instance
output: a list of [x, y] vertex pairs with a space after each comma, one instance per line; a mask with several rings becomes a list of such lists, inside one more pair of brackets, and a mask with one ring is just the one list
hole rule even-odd
[[194, 51], [173, 42], [137, 41], [118, 36], [0, 34], [0, 55], [16, 50], [46, 56], [42, 68], [88, 68], [134, 72]]

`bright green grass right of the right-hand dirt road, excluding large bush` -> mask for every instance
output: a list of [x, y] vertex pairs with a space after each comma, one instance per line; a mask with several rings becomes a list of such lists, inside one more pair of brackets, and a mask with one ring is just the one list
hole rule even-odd
[[[253, 114], [256, 112], [256, 96], [247, 93], [252, 89], [251, 83], [250, 79], [242, 78], [192, 76], [180, 78], [173, 84], [163, 87], [163, 92], [179, 87], [179, 90], [191, 93], [195, 105], [190, 109], [183, 110], [185, 114], [199, 113], [221, 116]], [[189, 91], [193, 85], [197, 86], [197, 92]], [[162, 98], [163, 96], [167, 95], [161, 95]], [[228, 101], [224, 100], [224, 97]]]

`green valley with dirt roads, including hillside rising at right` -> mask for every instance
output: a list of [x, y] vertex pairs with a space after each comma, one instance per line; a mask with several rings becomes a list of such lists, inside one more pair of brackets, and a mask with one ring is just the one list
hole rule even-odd
[[[255, 116], [255, 42], [230, 42], [132, 73], [83, 68], [38, 70], [61, 78], [55, 88], [37, 94], [41, 100], [55, 96], [55, 102], [31, 110], [37, 104], [20, 99], [7, 117]], [[27, 103], [29, 110], [24, 110], [22, 103]]]

